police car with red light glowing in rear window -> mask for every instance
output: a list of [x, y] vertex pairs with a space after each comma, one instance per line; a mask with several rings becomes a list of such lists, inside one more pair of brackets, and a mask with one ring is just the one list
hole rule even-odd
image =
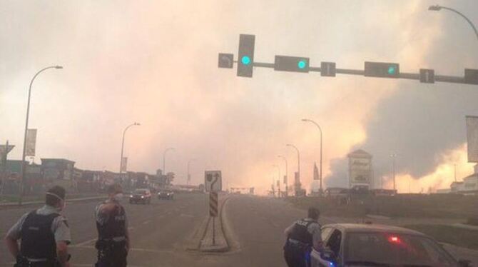
[[469, 267], [436, 241], [407, 228], [336, 223], [322, 226], [323, 248], [312, 249], [312, 267], [404, 266]]

